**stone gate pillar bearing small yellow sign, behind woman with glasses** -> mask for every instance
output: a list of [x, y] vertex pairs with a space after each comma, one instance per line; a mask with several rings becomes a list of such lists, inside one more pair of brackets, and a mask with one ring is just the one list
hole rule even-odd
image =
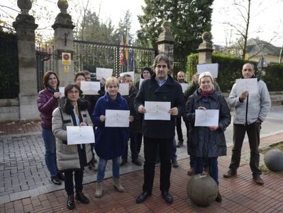
[[[68, 1], [59, 0], [58, 8], [61, 10], [57, 14], [54, 29], [54, 52], [55, 52], [55, 72], [57, 73], [60, 86], [66, 86], [74, 82], [74, 38], [72, 29], [75, 25], [72, 23], [72, 17], [67, 13]], [[70, 53], [70, 64], [62, 64], [62, 53]]]

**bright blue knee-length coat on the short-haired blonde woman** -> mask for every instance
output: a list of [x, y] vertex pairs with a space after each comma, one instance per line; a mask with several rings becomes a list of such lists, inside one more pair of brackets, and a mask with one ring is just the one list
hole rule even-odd
[[105, 121], [102, 122], [99, 118], [100, 115], [105, 115], [105, 110], [129, 110], [129, 106], [119, 92], [115, 100], [107, 92], [98, 99], [94, 108], [92, 119], [97, 127], [94, 149], [99, 158], [110, 160], [122, 156], [130, 134], [129, 127], [105, 127]]

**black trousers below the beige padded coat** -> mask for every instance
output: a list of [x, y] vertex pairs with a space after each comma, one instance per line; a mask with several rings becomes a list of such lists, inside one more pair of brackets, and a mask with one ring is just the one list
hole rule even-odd
[[83, 170], [76, 170], [74, 171], [66, 171], [64, 172], [65, 175], [65, 190], [67, 195], [74, 194], [74, 182], [72, 181], [73, 173], [75, 173], [75, 188], [76, 193], [83, 191]]

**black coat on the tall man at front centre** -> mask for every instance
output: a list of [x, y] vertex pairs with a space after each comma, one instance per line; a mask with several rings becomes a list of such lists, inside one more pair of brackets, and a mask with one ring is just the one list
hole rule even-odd
[[[178, 108], [177, 116], [181, 116], [185, 108], [182, 87], [170, 75], [162, 86], [159, 86], [155, 77], [154, 74], [142, 83], [135, 97], [135, 110], [139, 105], [144, 105], [145, 101], [168, 101], [171, 102], [171, 108]], [[170, 121], [144, 120], [142, 133], [148, 138], [172, 138], [175, 134], [175, 120], [176, 116], [171, 116]]]

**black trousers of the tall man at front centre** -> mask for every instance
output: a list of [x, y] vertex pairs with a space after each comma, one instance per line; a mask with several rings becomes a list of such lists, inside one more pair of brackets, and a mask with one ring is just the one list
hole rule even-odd
[[160, 154], [160, 190], [170, 188], [172, 138], [148, 138], [144, 136], [144, 192], [152, 192], [154, 181], [155, 158], [157, 149]]

